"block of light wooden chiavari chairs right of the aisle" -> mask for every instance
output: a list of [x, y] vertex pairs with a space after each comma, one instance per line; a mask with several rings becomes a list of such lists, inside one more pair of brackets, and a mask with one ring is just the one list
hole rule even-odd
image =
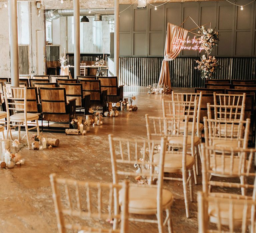
[[[242, 98], [242, 97], [240, 97]], [[194, 98], [195, 99], [195, 98]], [[188, 99], [187, 99], [188, 100]], [[159, 232], [164, 231], [164, 227], [168, 226], [168, 232], [172, 232], [172, 221], [171, 221], [171, 206], [174, 201], [173, 194], [163, 188], [163, 179], [167, 180], [180, 180], [183, 182], [184, 189], [184, 198], [185, 198], [185, 206], [186, 213], [189, 214], [189, 204], [188, 204], [188, 193], [187, 186], [189, 185], [190, 189], [190, 200], [193, 201], [193, 166], [195, 163], [195, 157], [188, 153], [187, 149], [190, 148], [190, 141], [193, 137], [193, 132], [195, 132], [195, 119], [197, 116], [197, 102], [196, 101], [171, 101], [166, 102], [163, 101], [163, 114], [168, 112], [168, 110], [173, 111], [175, 115], [163, 116], [163, 117], [153, 117], [146, 115], [146, 126], [147, 126], [147, 135], [148, 139], [131, 139], [131, 138], [117, 138], [109, 135], [109, 147], [110, 147], [110, 155], [112, 162], [112, 173], [113, 173], [113, 185], [121, 185], [121, 181], [123, 179], [127, 179], [128, 177], [135, 176], [146, 176], [148, 180], [148, 184], [144, 183], [143, 185], [130, 184], [129, 187], [119, 186], [116, 187], [113, 192], [116, 195], [114, 197], [114, 201], [110, 201], [108, 198], [108, 206], [114, 205], [113, 208], [108, 208], [108, 210], [112, 210], [108, 212], [108, 217], [111, 216], [113, 218], [113, 229], [116, 232], [119, 232], [117, 228], [118, 218], [116, 214], [118, 213], [119, 217], [122, 216], [121, 219], [121, 230], [120, 232], [127, 232], [128, 222], [136, 221], [141, 224], [141, 222], [148, 223], [157, 223]], [[170, 103], [170, 105], [169, 105]], [[176, 107], [175, 107], [176, 106]], [[209, 106], [209, 105], [208, 105]], [[238, 105], [237, 105], [238, 106]], [[234, 106], [234, 107], [237, 107]], [[179, 111], [182, 107], [183, 113], [185, 115], [179, 115], [177, 111]], [[184, 108], [185, 107], [185, 108]], [[217, 106], [213, 106], [217, 108]], [[230, 107], [230, 106], [229, 106]], [[218, 109], [223, 108], [223, 106], [218, 106]], [[228, 108], [228, 107], [227, 107]], [[238, 107], [237, 107], [238, 108]], [[192, 111], [195, 110], [195, 111]], [[230, 108], [229, 108], [230, 109]], [[240, 109], [242, 107], [240, 106]], [[190, 112], [191, 111], [191, 112]], [[192, 114], [193, 112], [193, 114]], [[177, 113], [177, 114], [176, 114]], [[219, 112], [220, 114], [220, 112]], [[248, 132], [248, 123], [247, 121], [241, 121], [240, 118], [242, 114], [239, 115], [239, 123], [246, 124]], [[192, 120], [192, 126], [189, 127], [189, 118]], [[254, 176], [255, 174], [250, 173], [250, 167], [252, 164], [253, 154], [256, 152], [255, 149], [247, 149], [247, 148], [226, 148], [221, 147], [220, 145], [213, 145], [213, 139], [222, 139], [224, 141], [228, 140], [245, 140], [245, 138], [235, 137], [233, 135], [233, 131], [227, 131], [227, 125], [233, 124], [231, 127], [234, 128], [234, 125], [237, 122], [231, 122], [223, 119], [207, 119], [204, 118], [204, 129], [206, 134], [206, 143], [205, 146], [201, 146], [201, 159], [202, 159], [202, 176], [203, 176], [203, 192], [198, 194], [198, 203], [199, 203], [199, 232], [207, 232], [208, 222], [217, 223], [217, 232], [223, 231], [224, 227], [229, 227], [228, 232], [233, 232], [234, 227], [242, 227], [242, 232], [245, 232], [244, 229], [247, 227], [254, 227], [252, 225], [255, 224], [255, 190], [256, 190], [256, 182], [254, 185], [247, 184], [245, 181], [247, 177]], [[218, 132], [222, 132], [219, 134], [212, 134], [212, 132], [216, 131], [215, 127], [218, 125]], [[224, 131], [221, 131], [220, 125], [225, 125], [223, 127]], [[191, 140], [189, 139], [189, 128], [191, 133]], [[193, 131], [194, 130], [194, 131]], [[239, 133], [238, 133], [239, 134]], [[237, 135], [238, 135], [237, 134]], [[245, 132], [246, 134], [246, 132]], [[161, 141], [159, 138], [161, 137]], [[214, 138], [215, 137], [215, 138]], [[158, 139], [157, 139], [158, 138]], [[176, 138], [176, 140], [174, 140]], [[225, 143], [224, 143], [225, 144]], [[158, 146], [160, 145], [160, 147]], [[169, 150], [167, 150], [167, 148]], [[127, 149], [128, 148], [128, 149]], [[158, 152], [156, 148], [160, 148]], [[179, 149], [179, 150], [177, 150]], [[238, 154], [238, 155], [237, 155]], [[247, 159], [248, 158], [248, 159]], [[132, 169], [134, 164], [139, 164], [139, 168], [137, 171]], [[239, 165], [240, 164], [240, 165]], [[246, 164], [246, 165], [243, 165]], [[149, 167], [150, 169], [146, 169]], [[235, 169], [233, 169], [235, 168]], [[143, 171], [144, 169], [144, 171]], [[158, 171], [156, 173], [155, 171]], [[179, 173], [182, 174], [182, 178], [173, 178], [173, 177], [165, 177], [164, 172], [168, 173]], [[188, 172], [188, 176], [187, 176]], [[241, 179], [241, 183], [233, 183], [231, 184], [229, 181], [224, 180], [220, 181], [212, 181], [211, 178], [213, 176], [216, 177], [225, 177], [227, 180], [230, 177], [238, 177]], [[55, 178], [55, 177], [54, 177]], [[157, 185], [153, 185], [152, 181], [157, 178]], [[55, 182], [55, 183], [54, 183]], [[55, 212], [57, 214], [58, 220], [58, 228], [60, 232], [65, 228], [67, 229], [88, 229], [88, 223], [90, 221], [84, 221], [80, 224], [74, 224], [70, 217], [103, 217], [100, 214], [102, 210], [101, 206], [101, 194], [100, 191], [103, 184], [97, 183], [97, 189], [94, 192], [94, 195], [90, 193], [89, 183], [88, 182], [80, 182], [76, 180], [66, 180], [66, 179], [52, 179], [51, 183], [53, 187], [53, 198], [55, 202]], [[84, 190], [84, 195], [81, 195], [82, 188], [78, 187], [84, 186], [86, 190]], [[56, 187], [62, 185], [62, 192], [57, 193], [56, 195]], [[95, 185], [95, 184], [94, 184]], [[107, 185], [107, 184], [105, 184]], [[109, 184], [108, 184], [109, 185]], [[209, 185], [220, 187], [222, 193], [213, 193]], [[64, 186], [64, 187], [63, 187]], [[72, 187], [73, 186], [73, 187]], [[111, 186], [111, 185], [110, 185]], [[122, 188], [120, 190], [120, 188]], [[227, 191], [221, 187], [236, 187], [244, 190], [243, 195], [237, 194], [229, 194]], [[253, 188], [254, 196], [250, 198], [246, 196], [246, 189]], [[76, 191], [74, 191], [74, 189]], [[71, 198], [71, 191], [75, 194], [73, 198]], [[120, 190], [120, 191], [118, 191]], [[219, 190], [218, 190], [219, 191]], [[224, 192], [223, 192], [224, 191]], [[62, 193], [62, 195], [61, 195]], [[89, 194], [89, 197], [87, 196]], [[78, 196], [78, 197], [77, 197]], [[78, 203], [79, 197], [82, 196], [84, 201], [82, 202], [85, 207], [81, 207], [80, 202], [77, 205], [73, 205], [70, 203]], [[93, 203], [88, 203], [91, 199], [90, 197], [96, 196], [98, 197], [98, 201], [94, 201]], [[64, 198], [65, 197], [65, 198]], [[108, 197], [108, 195], [106, 195]], [[86, 199], [85, 199], [86, 198]], [[67, 201], [66, 204], [60, 202]], [[64, 201], [63, 201], [64, 200]], [[71, 201], [73, 200], [73, 201]], [[112, 200], [112, 197], [111, 197]], [[59, 204], [58, 204], [59, 203]], [[98, 203], [98, 204], [96, 204]], [[209, 204], [209, 205], [208, 205]], [[95, 206], [97, 205], [97, 206]], [[86, 207], [87, 206], [87, 207]], [[88, 208], [88, 206], [91, 206]], [[121, 213], [120, 211], [121, 206]], [[94, 208], [93, 208], [94, 207]], [[232, 213], [238, 209], [242, 211], [238, 211], [235, 214], [235, 217]], [[254, 207], [254, 208], [251, 208]], [[94, 209], [94, 213], [93, 213]], [[115, 209], [115, 211], [113, 211]], [[209, 209], [209, 211], [208, 211]], [[89, 212], [89, 213], [88, 213]], [[163, 212], [166, 212], [166, 218], [163, 217]], [[114, 214], [113, 214], [114, 213]], [[230, 214], [227, 214], [230, 213]], [[130, 216], [131, 214], [136, 214], [136, 217]], [[138, 216], [140, 215], [151, 215], [155, 214], [157, 216], [157, 220], [153, 219], [141, 219]], [[64, 216], [65, 215], [65, 216]], [[65, 218], [66, 217], [66, 218]], [[104, 218], [104, 217], [103, 217]], [[251, 221], [250, 221], [251, 220]], [[71, 221], [71, 222], [70, 222]], [[122, 222], [124, 221], [124, 222]], [[122, 226], [126, 226], [123, 228]], [[86, 226], [87, 225], [87, 226]], [[79, 227], [79, 228], [76, 228]], [[141, 226], [140, 226], [141, 227]], [[212, 226], [210, 226], [212, 227]], [[96, 227], [95, 227], [96, 228]], [[108, 225], [108, 230], [111, 227]], [[225, 228], [224, 228], [225, 229]], [[254, 228], [253, 228], [254, 229]], [[103, 229], [101, 228], [103, 232]], [[254, 231], [253, 231], [254, 232]]]

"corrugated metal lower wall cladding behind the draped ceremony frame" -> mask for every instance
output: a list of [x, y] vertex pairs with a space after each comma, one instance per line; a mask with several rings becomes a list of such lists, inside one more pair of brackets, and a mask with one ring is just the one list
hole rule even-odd
[[[218, 79], [255, 79], [256, 58], [219, 58]], [[109, 69], [113, 59], [109, 58]], [[162, 58], [120, 58], [119, 85], [147, 86], [158, 82]], [[194, 69], [195, 58], [176, 58], [169, 62], [172, 87], [203, 87], [204, 80]]]

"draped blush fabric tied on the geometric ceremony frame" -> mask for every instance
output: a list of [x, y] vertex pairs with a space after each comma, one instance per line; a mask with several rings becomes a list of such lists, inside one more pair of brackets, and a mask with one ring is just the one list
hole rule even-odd
[[174, 60], [179, 55], [181, 51], [180, 47], [183, 45], [182, 41], [186, 40], [187, 34], [187, 30], [171, 23], [167, 24], [164, 60], [162, 62], [158, 85], [163, 85], [165, 87], [168, 86], [168, 93], [171, 92], [171, 80], [168, 61]]

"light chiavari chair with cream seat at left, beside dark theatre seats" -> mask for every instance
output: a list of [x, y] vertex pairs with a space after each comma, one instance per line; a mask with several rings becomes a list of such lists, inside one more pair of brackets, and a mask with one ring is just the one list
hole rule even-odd
[[[27, 88], [17, 88], [17, 87], [10, 87], [11, 95], [7, 96], [6, 88], [4, 87], [4, 98], [6, 103], [6, 112], [7, 112], [7, 138], [10, 132], [11, 135], [11, 128], [19, 128], [19, 138], [20, 138], [20, 127], [25, 126], [26, 129], [26, 136], [28, 142], [28, 148], [31, 148], [31, 144], [29, 142], [29, 135], [28, 131], [32, 129], [37, 129], [37, 134], [39, 135], [39, 125], [38, 125], [38, 114], [36, 113], [28, 113], [27, 108]], [[36, 102], [36, 100], [35, 100]], [[9, 107], [11, 106], [11, 107]], [[13, 111], [13, 115], [10, 115], [10, 110]], [[36, 126], [28, 128], [28, 121], [36, 121]], [[10, 125], [10, 122], [15, 122]], [[18, 124], [16, 124], [18, 123]]]

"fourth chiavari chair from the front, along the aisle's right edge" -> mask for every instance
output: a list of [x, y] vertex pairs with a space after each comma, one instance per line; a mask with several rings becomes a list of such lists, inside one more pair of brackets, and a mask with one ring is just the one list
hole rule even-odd
[[[173, 117], [173, 116], [189, 116], [190, 123], [190, 135], [188, 135], [187, 146], [191, 150], [191, 155], [195, 158], [195, 165], [193, 167], [194, 171], [194, 180], [195, 184], [197, 184], [197, 174], [199, 174], [198, 169], [198, 156], [199, 156], [199, 145], [201, 142], [200, 136], [195, 135], [196, 132], [196, 121], [197, 121], [197, 106], [198, 100], [194, 101], [166, 101], [162, 100], [163, 106], [163, 116], [164, 117]], [[180, 124], [180, 132], [182, 129], [182, 124]], [[170, 139], [171, 140], [171, 139]], [[169, 140], [169, 143], [170, 143]], [[175, 138], [175, 140], [177, 140]], [[180, 136], [180, 140], [182, 140], [182, 135]]]

